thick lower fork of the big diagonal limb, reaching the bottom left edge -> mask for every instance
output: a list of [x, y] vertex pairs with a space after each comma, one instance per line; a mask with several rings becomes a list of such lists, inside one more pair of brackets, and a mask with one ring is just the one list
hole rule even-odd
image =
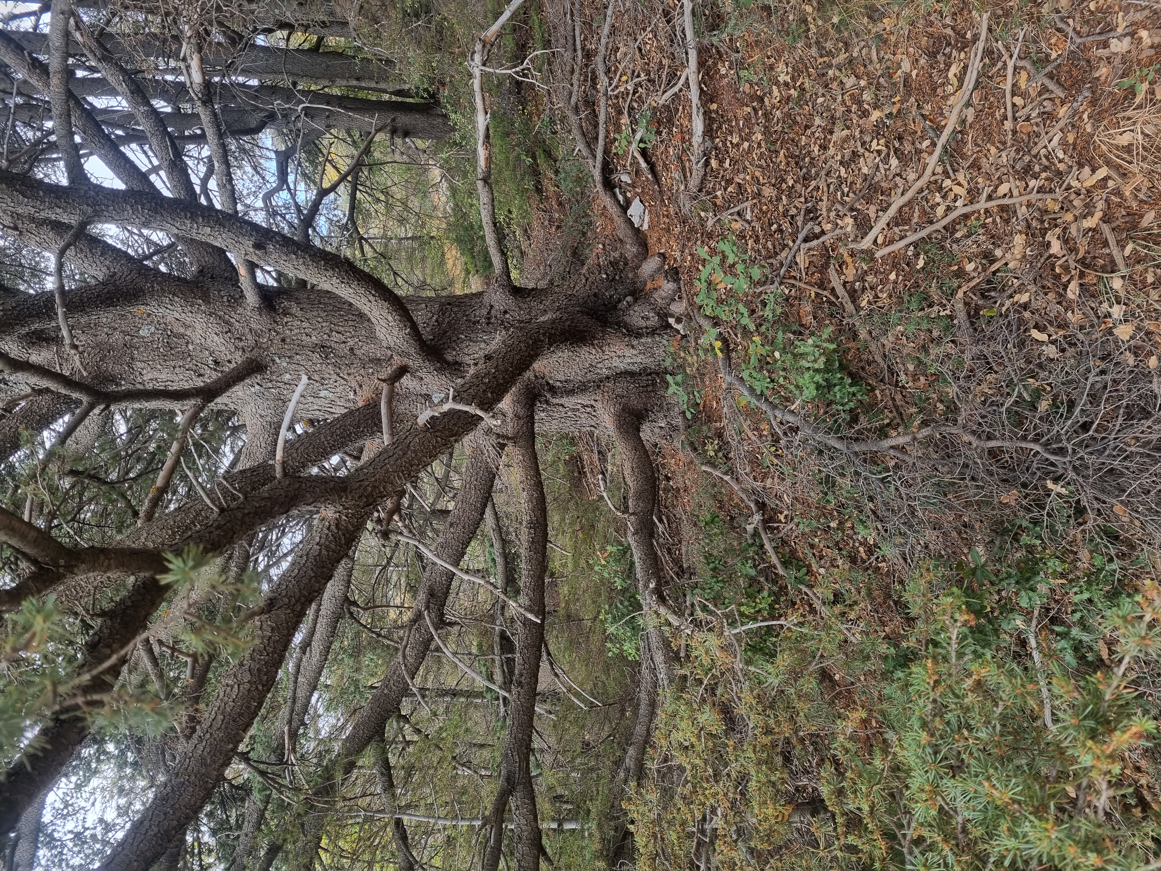
[[168, 779], [101, 863], [101, 871], [149, 871], [201, 811], [269, 693], [307, 610], [351, 549], [369, 511], [324, 509], [294, 561], [272, 584], [252, 622], [253, 646], [221, 678], [217, 697]]

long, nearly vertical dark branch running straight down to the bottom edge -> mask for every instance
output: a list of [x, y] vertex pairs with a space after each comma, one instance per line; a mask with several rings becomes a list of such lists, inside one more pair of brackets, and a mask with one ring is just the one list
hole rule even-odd
[[545, 574], [548, 568], [548, 505], [536, 459], [531, 384], [521, 383], [512, 395], [512, 461], [520, 487], [520, 604], [538, 618], [513, 614], [518, 632], [512, 706], [509, 712], [496, 799], [489, 814], [484, 871], [497, 871], [504, 847], [504, 812], [512, 805], [518, 871], [540, 868], [540, 821], [532, 780], [532, 734], [536, 714], [540, 655], [545, 647]]

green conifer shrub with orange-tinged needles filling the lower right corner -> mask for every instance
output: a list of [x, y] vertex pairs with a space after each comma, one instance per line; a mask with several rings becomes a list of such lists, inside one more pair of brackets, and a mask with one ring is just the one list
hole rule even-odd
[[1148, 571], [1025, 546], [924, 566], [906, 613], [875, 597], [851, 571], [788, 625], [686, 638], [630, 800], [642, 869], [684, 868], [691, 832], [723, 869], [1154, 866]]

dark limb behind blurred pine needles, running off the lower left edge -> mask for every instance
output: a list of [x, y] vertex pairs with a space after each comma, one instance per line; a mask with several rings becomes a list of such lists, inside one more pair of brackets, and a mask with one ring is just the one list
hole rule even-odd
[[[156, 577], [134, 581], [85, 642], [78, 672], [94, 669], [125, 647], [145, 628], [166, 592], [167, 588]], [[73, 688], [73, 692], [85, 696], [108, 692], [121, 675], [122, 662]], [[16, 827], [21, 814], [52, 786], [88, 730], [88, 718], [75, 710], [60, 711], [37, 730], [29, 749], [13, 763], [0, 783], [0, 836], [7, 836]]]

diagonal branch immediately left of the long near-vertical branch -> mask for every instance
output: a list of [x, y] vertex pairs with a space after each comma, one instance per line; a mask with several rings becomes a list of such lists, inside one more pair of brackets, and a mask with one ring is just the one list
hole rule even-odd
[[[499, 446], [492, 445], [484, 437], [469, 439], [467, 446], [468, 461], [460, 492], [445, 521], [444, 532], [433, 548], [441, 560], [453, 566], [459, 566], [483, 523], [492, 484], [496, 481], [496, 463], [499, 461]], [[430, 614], [437, 626], [442, 621], [444, 609], [447, 606], [454, 581], [455, 575], [450, 569], [434, 561], [427, 564], [414, 607], [404, 628], [408, 643], [396, 655], [383, 679], [375, 688], [375, 692], [367, 700], [367, 705], [359, 712], [359, 717], [339, 747], [334, 762], [324, 769], [333, 772], [333, 776], [315, 790], [316, 801], [324, 807], [341, 782], [354, 770], [355, 762], [363, 750], [375, 741], [382, 740], [388, 720], [398, 713], [401, 703], [411, 692], [411, 684], [432, 646], [432, 635], [424, 613]], [[308, 820], [300, 868], [310, 868], [310, 863], [313, 862], [319, 832], [325, 819], [324, 809]]]

